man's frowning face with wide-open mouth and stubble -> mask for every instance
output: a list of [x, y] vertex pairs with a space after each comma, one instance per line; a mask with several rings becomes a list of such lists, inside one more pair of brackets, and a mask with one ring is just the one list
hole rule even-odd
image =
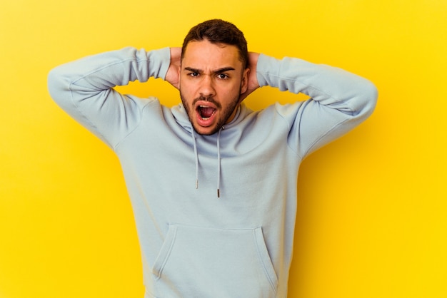
[[248, 69], [243, 68], [236, 46], [191, 41], [179, 80], [181, 101], [194, 130], [211, 135], [233, 120], [239, 96], [247, 89]]

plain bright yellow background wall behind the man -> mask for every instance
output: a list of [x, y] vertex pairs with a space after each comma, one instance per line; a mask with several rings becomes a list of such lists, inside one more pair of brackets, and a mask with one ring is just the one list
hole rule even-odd
[[[143, 297], [114, 154], [49, 98], [60, 63], [180, 46], [211, 18], [251, 51], [376, 83], [375, 113], [301, 166], [289, 297], [447, 297], [446, 0], [16, 0], [0, 9], [0, 297]], [[178, 102], [168, 83], [123, 91]], [[261, 108], [296, 97], [262, 88]]]

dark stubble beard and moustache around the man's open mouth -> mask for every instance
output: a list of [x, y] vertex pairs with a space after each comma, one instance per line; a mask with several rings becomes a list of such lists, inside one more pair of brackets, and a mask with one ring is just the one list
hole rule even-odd
[[[238, 94], [240, 94], [240, 93], [241, 93], [241, 88], [239, 88]], [[201, 96], [199, 98], [195, 98], [194, 101], [192, 101], [191, 106], [189, 106], [188, 103], [186, 103], [186, 100], [185, 100], [183, 94], [181, 93], [181, 89], [180, 89], [180, 98], [181, 98], [181, 102], [184, 105], [186, 114], [188, 115], [189, 122], [191, 122], [191, 125], [192, 125], [193, 129], [196, 131], [196, 133], [199, 133], [200, 135], [214, 135], [214, 133], [217, 133], [219, 130], [221, 130], [221, 128], [223, 128], [224, 125], [228, 122], [228, 119], [231, 117], [231, 114], [237, 108], [237, 106], [239, 104], [240, 96], [236, 96], [236, 98], [233, 98], [233, 101], [231, 101], [231, 105], [227, 106], [224, 110], [221, 109], [221, 104], [214, 101], [214, 98], [212, 98], [211, 96], [210, 97]], [[194, 124], [194, 117], [196, 114], [196, 111], [194, 110], [194, 104], [197, 101], [209, 101], [210, 103], [214, 103], [214, 105], [218, 107], [219, 113], [221, 113], [221, 116], [217, 119], [217, 123], [216, 123], [214, 129], [211, 130], [210, 133], [200, 133], [198, 128], [196, 128], [196, 124]]]

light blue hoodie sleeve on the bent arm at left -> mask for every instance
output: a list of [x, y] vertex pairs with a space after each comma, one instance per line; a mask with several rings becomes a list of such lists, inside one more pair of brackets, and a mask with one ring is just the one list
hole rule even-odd
[[138, 125], [142, 108], [150, 102], [122, 95], [114, 87], [164, 78], [170, 61], [169, 48], [146, 52], [129, 47], [87, 56], [52, 69], [49, 93], [66, 113], [114, 148]]

